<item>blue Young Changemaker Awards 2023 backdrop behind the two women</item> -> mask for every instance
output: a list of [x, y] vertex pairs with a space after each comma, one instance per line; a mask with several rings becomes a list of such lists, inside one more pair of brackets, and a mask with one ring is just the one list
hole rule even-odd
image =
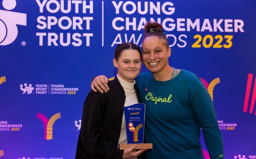
[[209, 84], [225, 159], [256, 159], [255, 0], [0, 0], [0, 159], [74, 159], [92, 77], [147, 21]]

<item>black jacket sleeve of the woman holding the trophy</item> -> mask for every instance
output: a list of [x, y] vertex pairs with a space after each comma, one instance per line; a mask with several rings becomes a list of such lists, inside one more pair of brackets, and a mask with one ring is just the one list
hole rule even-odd
[[[93, 95], [94, 94], [94, 95]], [[103, 133], [103, 114], [105, 113], [106, 101], [102, 96], [106, 94], [88, 94], [82, 117], [81, 142], [85, 149], [95, 158], [122, 159], [123, 150], [119, 150], [117, 145], [105, 140]]]

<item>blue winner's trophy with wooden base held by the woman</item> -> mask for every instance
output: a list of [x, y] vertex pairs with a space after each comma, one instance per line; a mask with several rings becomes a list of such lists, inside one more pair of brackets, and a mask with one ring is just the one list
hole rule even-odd
[[152, 144], [143, 144], [145, 126], [145, 104], [138, 103], [124, 107], [126, 136], [128, 144], [120, 144], [119, 149], [124, 150], [136, 145], [135, 149], [152, 149]]

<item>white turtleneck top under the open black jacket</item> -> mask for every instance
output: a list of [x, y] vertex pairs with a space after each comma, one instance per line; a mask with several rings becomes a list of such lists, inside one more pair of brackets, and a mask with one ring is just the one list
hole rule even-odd
[[[122, 87], [124, 88], [124, 93], [126, 96], [125, 102], [124, 102], [124, 107], [139, 103], [137, 96], [136, 96], [135, 89], [134, 89], [135, 80], [133, 83], [129, 83], [129, 82], [126, 82], [123, 79], [121, 79], [118, 76], [118, 74], [116, 76], [117, 76], [118, 81], [121, 83]], [[127, 144], [126, 125], [125, 125], [124, 115], [123, 115], [121, 132], [120, 132], [118, 144]]]

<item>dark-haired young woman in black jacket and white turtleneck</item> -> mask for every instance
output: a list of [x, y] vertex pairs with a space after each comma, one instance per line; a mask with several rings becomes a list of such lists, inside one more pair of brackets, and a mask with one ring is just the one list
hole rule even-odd
[[124, 107], [140, 102], [134, 80], [141, 68], [140, 47], [119, 44], [113, 64], [117, 75], [109, 81], [111, 90], [106, 94], [91, 91], [86, 97], [76, 159], [136, 159], [146, 151], [133, 152], [135, 145], [126, 150], [117, 148], [127, 143]]

